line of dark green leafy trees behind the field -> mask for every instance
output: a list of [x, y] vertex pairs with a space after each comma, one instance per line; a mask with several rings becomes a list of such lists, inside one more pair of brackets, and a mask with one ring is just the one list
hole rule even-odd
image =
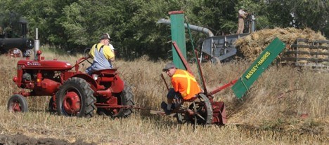
[[[80, 52], [108, 32], [117, 57], [134, 60], [148, 55], [158, 60], [166, 59], [171, 50], [169, 25], [156, 23], [169, 19], [169, 11], [184, 11], [188, 24], [218, 36], [236, 33], [242, 6], [256, 17], [256, 29], [309, 27], [329, 36], [329, 0], [2, 0], [0, 26], [19, 36], [18, 20], [25, 18], [31, 38], [38, 28], [41, 43]], [[192, 34], [195, 43], [207, 37]]]

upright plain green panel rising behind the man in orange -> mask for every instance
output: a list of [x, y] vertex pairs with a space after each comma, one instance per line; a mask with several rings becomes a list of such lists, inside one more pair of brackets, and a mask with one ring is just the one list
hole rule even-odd
[[[171, 19], [172, 41], [177, 43], [177, 46], [179, 46], [183, 57], [185, 57], [187, 60], [184, 13], [183, 11], [172, 11], [169, 12], [169, 15]], [[174, 46], [172, 46], [172, 59], [177, 68], [186, 69]]]

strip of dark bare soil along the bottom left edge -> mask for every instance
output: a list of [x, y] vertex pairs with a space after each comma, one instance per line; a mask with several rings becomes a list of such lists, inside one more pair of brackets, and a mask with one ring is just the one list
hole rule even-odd
[[34, 137], [27, 137], [23, 134], [15, 134], [15, 135], [4, 135], [0, 134], [0, 145], [12, 145], [12, 144], [44, 144], [44, 145], [57, 145], [57, 144], [63, 144], [63, 145], [93, 145], [96, 143], [86, 143], [82, 140], [77, 140], [73, 143], [60, 140], [60, 139], [51, 139], [51, 138], [41, 138], [36, 139]]

